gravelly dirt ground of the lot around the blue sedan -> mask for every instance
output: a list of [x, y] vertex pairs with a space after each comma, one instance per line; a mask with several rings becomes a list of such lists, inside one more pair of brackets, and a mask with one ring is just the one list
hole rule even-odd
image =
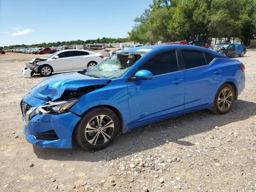
[[237, 58], [246, 88], [228, 114], [201, 110], [136, 128], [100, 151], [26, 142], [20, 100], [44, 79], [22, 76], [34, 57], [0, 55], [0, 191], [255, 191], [256, 50]]

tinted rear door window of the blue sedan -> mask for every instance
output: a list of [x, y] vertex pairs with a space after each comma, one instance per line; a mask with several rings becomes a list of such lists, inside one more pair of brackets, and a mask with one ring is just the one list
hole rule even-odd
[[198, 50], [181, 50], [184, 58], [185, 68], [190, 69], [194, 67], [206, 65], [204, 53]]

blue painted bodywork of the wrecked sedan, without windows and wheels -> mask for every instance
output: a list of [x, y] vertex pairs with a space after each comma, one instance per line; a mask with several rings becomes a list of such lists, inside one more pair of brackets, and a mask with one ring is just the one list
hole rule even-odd
[[[152, 79], [130, 80], [129, 76], [136, 74], [136, 69], [154, 54], [184, 48], [202, 50], [219, 58], [214, 58], [207, 66], [187, 70], [179, 68], [176, 72], [153, 76]], [[141, 49], [150, 51], [145, 52], [121, 77], [94, 78], [72, 72], [51, 76], [34, 86], [23, 100], [30, 106], [38, 107], [49, 100], [59, 99], [64, 90], [106, 85], [82, 95], [66, 113], [33, 116], [24, 126], [28, 142], [43, 148], [72, 148], [74, 128], [86, 111], [97, 106], [115, 108], [122, 115], [122, 132], [127, 132], [144, 124], [212, 107], [218, 88], [225, 82], [234, 83], [238, 94], [244, 90], [245, 74], [238, 67], [242, 65], [238, 60], [223, 57], [206, 48], [186, 45], [143, 46], [122, 52], [138, 52]], [[151, 78], [151, 72], [142, 70], [135, 76]], [[39, 140], [34, 136], [35, 133], [50, 130], [56, 132], [58, 140]]]

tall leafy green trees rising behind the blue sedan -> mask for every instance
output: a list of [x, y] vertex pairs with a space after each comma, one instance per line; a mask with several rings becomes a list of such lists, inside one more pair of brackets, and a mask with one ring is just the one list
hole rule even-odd
[[134, 19], [129, 40], [156, 43], [193, 38], [256, 38], [256, 0], [153, 0]]

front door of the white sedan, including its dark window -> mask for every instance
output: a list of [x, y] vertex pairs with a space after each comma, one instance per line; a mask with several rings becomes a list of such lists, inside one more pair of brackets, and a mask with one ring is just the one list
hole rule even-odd
[[72, 58], [70, 51], [60, 52], [58, 54], [59, 58], [50, 59], [50, 64], [53, 71], [68, 70], [72, 68]]

